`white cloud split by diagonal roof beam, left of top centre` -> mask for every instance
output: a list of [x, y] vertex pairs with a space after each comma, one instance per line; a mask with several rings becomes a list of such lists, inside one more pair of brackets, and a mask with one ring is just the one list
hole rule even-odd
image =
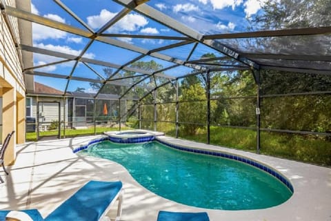
[[[88, 25], [92, 28], [101, 28], [105, 23], [110, 21], [117, 13], [109, 12], [106, 9], [101, 10], [99, 15], [92, 15], [87, 17]], [[148, 24], [147, 19], [138, 14], [129, 14], [123, 19], [119, 20], [111, 28], [108, 29], [112, 32], [123, 32], [123, 31], [136, 31], [139, 28]]]

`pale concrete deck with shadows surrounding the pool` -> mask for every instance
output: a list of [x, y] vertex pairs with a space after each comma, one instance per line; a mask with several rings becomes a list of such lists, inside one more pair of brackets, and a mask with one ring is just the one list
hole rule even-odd
[[207, 211], [212, 221], [331, 220], [330, 168], [172, 137], [158, 137], [181, 146], [208, 148], [250, 157], [277, 169], [288, 177], [294, 186], [294, 194], [288, 201], [269, 209], [199, 209], [155, 195], [137, 183], [130, 173], [116, 162], [72, 153], [73, 148], [98, 137], [103, 135], [17, 145], [17, 161], [8, 167], [10, 175], [6, 176], [0, 171], [5, 180], [5, 183], [0, 184], [0, 209], [39, 209], [43, 217], [46, 217], [89, 180], [121, 180], [125, 189], [121, 220], [156, 220], [159, 210]]

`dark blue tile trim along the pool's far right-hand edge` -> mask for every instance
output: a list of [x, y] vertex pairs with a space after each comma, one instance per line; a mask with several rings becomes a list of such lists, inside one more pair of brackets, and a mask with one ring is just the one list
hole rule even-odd
[[188, 151], [188, 152], [193, 152], [193, 153], [200, 153], [200, 154], [205, 154], [205, 155], [213, 155], [213, 156], [217, 156], [217, 157], [224, 157], [224, 158], [228, 158], [230, 160], [237, 160], [237, 161], [243, 162], [245, 164], [250, 164], [251, 166], [255, 166], [258, 169], [261, 169], [261, 170], [265, 171], [266, 173], [269, 173], [270, 175], [276, 177], [278, 180], [283, 182], [283, 184], [288, 186], [288, 189], [290, 189], [290, 191], [292, 193], [294, 193], [293, 186], [292, 186], [291, 182], [288, 179], [286, 179], [283, 175], [281, 175], [277, 171], [274, 171], [270, 167], [265, 166], [264, 164], [260, 164], [259, 162], [255, 162], [254, 160], [246, 159], [243, 156], [232, 155], [230, 153], [221, 153], [221, 152], [213, 152], [213, 151], [207, 151], [207, 150], [199, 150], [199, 149], [195, 149], [195, 148], [188, 148], [188, 147], [183, 147], [183, 146], [177, 146], [177, 145], [174, 145], [174, 144], [168, 144], [167, 142], [164, 142], [163, 140], [159, 140], [159, 139], [155, 139], [155, 140], [157, 140], [157, 142], [160, 142], [161, 144], [164, 144], [166, 146], [170, 146], [171, 148], [175, 148], [175, 149], [180, 150], [180, 151]]

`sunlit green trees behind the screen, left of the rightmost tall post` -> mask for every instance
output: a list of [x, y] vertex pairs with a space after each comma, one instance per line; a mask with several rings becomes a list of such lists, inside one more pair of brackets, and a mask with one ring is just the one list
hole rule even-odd
[[[208, 53], [203, 55], [201, 58], [213, 58], [213, 54]], [[210, 61], [209, 61], [210, 62]], [[210, 69], [214, 65], [219, 64], [220, 66], [224, 63], [232, 64], [232, 60], [221, 60], [211, 61]], [[208, 65], [207, 65], [208, 67]], [[195, 95], [190, 93], [190, 90], [197, 90], [197, 85], [203, 88], [205, 95]], [[193, 86], [193, 87], [192, 87]], [[194, 110], [195, 119], [199, 120], [198, 123], [205, 123], [207, 114], [206, 111], [206, 100], [207, 100], [207, 75], [191, 75], [185, 77], [182, 82], [182, 92], [190, 93], [186, 99], [190, 101], [203, 100], [205, 102], [195, 102]], [[255, 107], [256, 99], [252, 98], [233, 98], [233, 97], [248, 97], [254, 96], [257, 93], [257, 86], [254, 82], [252, 72], [248, 70], [243, 71], [218, 71], [210, 73], [210, 124], [212, 125], [232, 125], [232, 126], [254, 126], [256, 124]], [[182, 99], [185, 96], [182, 97]], [[199, 106], [199, 105], [200, 106]], [[192, 104], [185, 104], [186, 106]], [[181, 107], [179, 110], [181, 111]], [[186, 111], [185, 107], [185, 111]], [[201, 110], [201, 111], [200, 111]], [[203, 113], [203, 111], [205, 111]], [[194, 115], [190, 113], [190, 115]], [[194, 118], [190, 116], [190, 118]], [[199, 118], [200, 117], [200, 118]], [[194, 128], [189, 128], [194, 127]], [[192, 124], [185, 126], [185, 131], [197, 131], [201, 126], [194, 126]]]

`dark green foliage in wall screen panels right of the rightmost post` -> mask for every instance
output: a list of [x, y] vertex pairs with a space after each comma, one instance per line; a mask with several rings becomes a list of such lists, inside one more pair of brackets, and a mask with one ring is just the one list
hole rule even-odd
[[[262, 95], [306, 93], [331, 90], [328, 75], [263, 70]], [[297, 95], [262, 100], [263, 127], [293, 131], [331, 131], [330, 95]]]

